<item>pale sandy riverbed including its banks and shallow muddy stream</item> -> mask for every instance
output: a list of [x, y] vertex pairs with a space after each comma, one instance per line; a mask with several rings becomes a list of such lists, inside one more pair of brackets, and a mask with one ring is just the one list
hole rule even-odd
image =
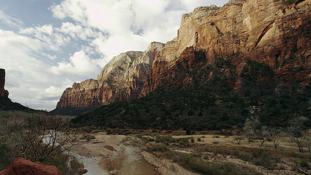
[[[98, 162], [106, 175], [195, 175], [170, 160], [145, 151], [144, 142], [124, 135], [91, 134], [95, 139], [75, 147], [72, 152]], [[86, 170], [94, 169], [85, 165]], [[91, 175], [91, 174], [89, 174]]]

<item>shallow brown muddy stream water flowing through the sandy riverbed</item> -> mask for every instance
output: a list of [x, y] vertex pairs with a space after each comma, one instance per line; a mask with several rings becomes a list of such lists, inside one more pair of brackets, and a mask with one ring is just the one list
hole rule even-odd
[[[126, 137], [125, 139], [115, 146], [102, 145], [101, 149], [109, 150], [109, 154], [85, 157], [72, 153], [72, 156], [83, 162], [87, 170], [85, 175], [160, 175], [155, 167], [148, 164], [140, 155], [143, 151], [143, 148], [138, 146], [141, 140], [134, 137]], [[88, 148], [96, 149], [92, 146]], [[87, 150], [85, 150], [86, 152]]]

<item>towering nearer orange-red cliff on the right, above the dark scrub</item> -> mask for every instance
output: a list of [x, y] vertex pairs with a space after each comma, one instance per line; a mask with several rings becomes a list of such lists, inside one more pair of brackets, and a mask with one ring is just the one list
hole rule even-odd
[[[187, 86], [180, 69], [221, 58], [241, 73], [246, 59], [269, 65], [282, 79], [311, 78], [311, 0], [231, 0], [198, 7], [182, 17], [177, 38], [156, 57], [140, 96], [164, 85]], [[174, 78], [175, 77], [175, 78]], [[239, 86], [237, 77], [236, 87]]]

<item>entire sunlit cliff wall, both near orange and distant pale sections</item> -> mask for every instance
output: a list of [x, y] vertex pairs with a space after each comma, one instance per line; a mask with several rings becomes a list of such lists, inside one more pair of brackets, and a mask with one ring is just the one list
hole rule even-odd
[[182, 17], [178, 36], [165, 46], [154, 42], [145, 53], [114, 57], [97, 80], [67, 88], [56, 107], [100, 106], [142, 97], [165, 85], [192, 86], [201, 77], [183, 70], [196, 68], [194, 74], [204, 74], [200, 68], [220, 60], [231, 65], [221, 72], [235, 90], [242, 87], [239, 75], [247, 60], [269, 66], [279, 83], [306, 84], [311, 79], [310, 29], [311, 0], [231, 0], [221, 8], [198, 7]]

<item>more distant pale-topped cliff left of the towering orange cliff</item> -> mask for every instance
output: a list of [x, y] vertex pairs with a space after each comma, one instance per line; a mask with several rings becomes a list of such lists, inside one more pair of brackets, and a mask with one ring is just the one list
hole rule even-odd
[[130, 51], [113, 57], [96, 80], [88, 79], [67, 88], [56, 107], [97, 107], [138, 98], [151, 64], [163, 46], [153, 42], [145, 52]]

